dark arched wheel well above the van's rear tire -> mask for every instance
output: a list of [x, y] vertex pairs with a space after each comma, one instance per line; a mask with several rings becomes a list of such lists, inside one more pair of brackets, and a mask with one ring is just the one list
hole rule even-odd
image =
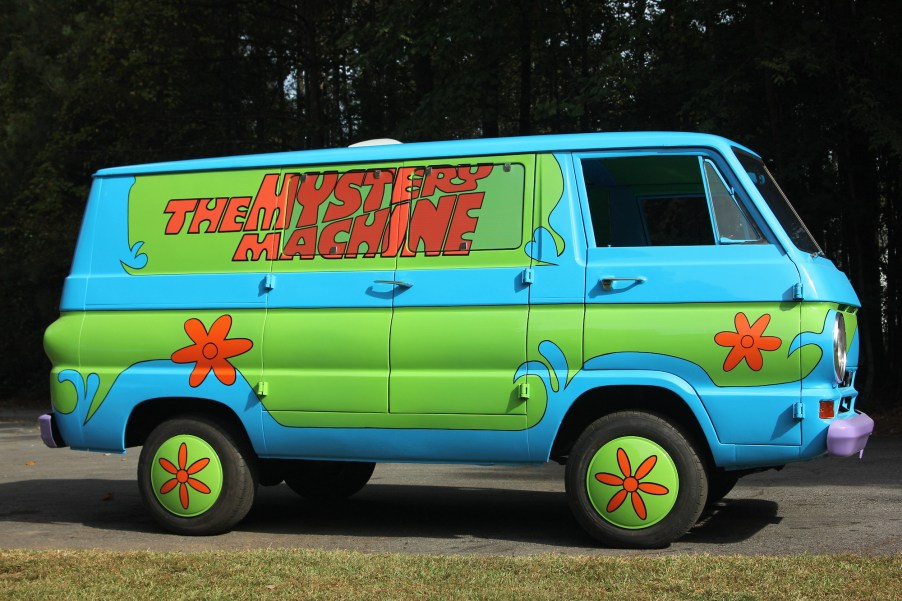
[[247, 432], [234, 411], [217, 401], [191, 398], [151, 399], [136, 406], [125, 426], [125, 446], [141, 446], [153, 429], [164, 421], [192, 413], [216, 420], [250, 448]]

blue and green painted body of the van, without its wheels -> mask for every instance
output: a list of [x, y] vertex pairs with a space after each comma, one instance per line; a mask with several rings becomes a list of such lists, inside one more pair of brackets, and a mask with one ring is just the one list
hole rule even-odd
[[[751, 212], [766, 244], [599, 245], [585, 161], [701, 157], [728, 187], [742, 178], [718, 138], [575, 140], [98, 174], [47, 334], [64, 437], [122, 450], [140, 403], [208, 399], [239, 416], [262, 456], [544, 461], [582, 393], [652, 383], [691, 409], [719, 465], [820, 449], [828, 424], [799, 415], [831, 394], [854, 413], [857, 396], [825, 375], [826, 322], [848, 310], [826, 299], [857, 303], [847, 283], [811, 257], [800, 278], [766, 209]], [[688, 181], [669, 195], [614, 183], [609, 200], [632, 194], [633, 212], [705, 195]], [[624, 237], [650, 236], [630, 223]], [[817, 301], [808, 313], [800, 289]], [[762, 365], [733, 356], [746, 329], [764, 341]]]

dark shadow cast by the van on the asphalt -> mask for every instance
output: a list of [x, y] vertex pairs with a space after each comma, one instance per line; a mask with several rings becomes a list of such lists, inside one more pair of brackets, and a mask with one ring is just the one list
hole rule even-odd
[[[0, 499], [0, 522], [75, 523], [172, 536], [160, 531], [149, 517], [134, 481], [11, 482], [0, 485]], [[779, 523], [777, 509], [771, 501], [721, 501], [681, 542], [745, 540]], [[597, 546], [578, 526], [561, 492], [422, 485], [371, 484], [357, 496], [330, 506], [305, 502], [285, 485], [260, 488], [253, 509], [235, 533], [362, 539], [474, 537], [568, 548]]]

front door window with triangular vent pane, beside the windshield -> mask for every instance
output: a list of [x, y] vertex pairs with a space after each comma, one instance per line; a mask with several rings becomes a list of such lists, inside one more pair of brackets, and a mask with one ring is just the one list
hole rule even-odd
[[581, 160], [598, 247], [703, 246], [763, 238], [717, 167], [698, 155]]

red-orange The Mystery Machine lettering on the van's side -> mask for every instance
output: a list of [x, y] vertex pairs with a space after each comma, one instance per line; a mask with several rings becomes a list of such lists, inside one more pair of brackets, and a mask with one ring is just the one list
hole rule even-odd
[[169, 200], [165, 233], [240, 232], [233, 261], [466, 255], [492, 169], [269, 173], [254, 197]]

